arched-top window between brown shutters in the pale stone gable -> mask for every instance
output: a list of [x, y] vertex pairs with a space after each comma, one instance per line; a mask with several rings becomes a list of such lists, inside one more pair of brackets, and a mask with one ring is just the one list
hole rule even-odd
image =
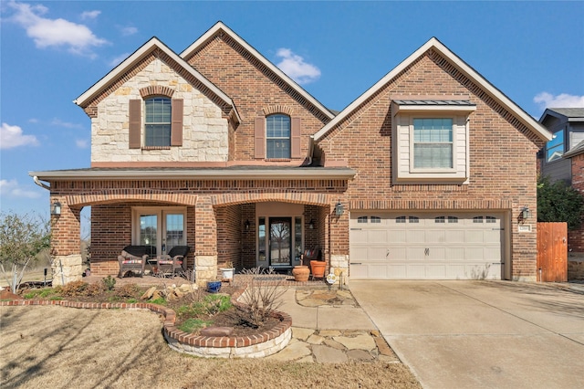
[[145, 101], [146, 147], [171, 145], [171, 99], [155, 97]]

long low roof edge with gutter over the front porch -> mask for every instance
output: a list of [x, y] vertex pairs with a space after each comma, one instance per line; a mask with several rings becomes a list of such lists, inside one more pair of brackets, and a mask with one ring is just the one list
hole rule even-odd
[[230, 166], [205, 168], [85, 168], [29, 172], [35, 181], [92, 181], [92, 180], [143, 180], [143, 179], [351, 179], [355, 171], [347, 167], [322, 166]]

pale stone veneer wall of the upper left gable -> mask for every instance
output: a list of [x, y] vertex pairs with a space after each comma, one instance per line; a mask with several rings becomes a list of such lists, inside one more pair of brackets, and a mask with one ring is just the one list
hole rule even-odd
[[[130, 100], [142, 100], [149, 86], [172, 90], [183, 100], [183, 146], [129, 149]], [[220, 107], [160, 58], [120, 85], [97, 106], [91, 119], [91, 163], [224, 162], [229, 156], [229, 125]], [[142, 129], [144, 104], [142, 104]], [[143, 131], [143, 130], [142, 130]], [[142, 144], [144, 134], [142, 132]]]

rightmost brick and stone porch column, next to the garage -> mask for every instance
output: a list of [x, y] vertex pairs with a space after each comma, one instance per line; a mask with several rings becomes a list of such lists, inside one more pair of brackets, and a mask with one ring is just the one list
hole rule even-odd
[[[349, 211], [346, 201], [340, 200], [344, 207], [342, 215], [337, 216], [335, 205], [330, 206], [330, 267], [335, 269], [338, 282], [349, 283]], [[341, 277], [342, 276], [342, 277]]]

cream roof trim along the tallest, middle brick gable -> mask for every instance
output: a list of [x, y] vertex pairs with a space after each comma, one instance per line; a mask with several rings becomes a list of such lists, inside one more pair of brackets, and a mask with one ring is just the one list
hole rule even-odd
[[300, 96], [304, 99], [308, 100], [313, 106], [318, 108], [318, 110], [322, 111], [325, 116], [329, 119], [335, 117], [334, 113], [328, 110], [324, 105], [322, 105], [318, 100], [312, 97], [305, 89], [300, 87], [296, 81], [290, 79], [286, 73], [276, 67], [273, 63], [267, 60], [266, 57], [261, 55], [254, 47], [249, 45], [242, 37], [239, 37], [233, 30], [231, 30], [228, 26], [225, 26], [223, 22], [219, 21], [215, 23], [207, 32], [203, 34], [203, 36], [199, 37], [197, 40], [193, 42], [193, 44], [183, 50], [181, 53], [181, 57], [185, 60], [189, 60], [193, 56], [193, 53], [197, 51], [200, 47], [203, 47], [209, 40], [213, 39], [218, 34], [226, 34], [229, 37], [233, 38], [235, 42], [245, 48], [247, 52], [249, 52], [255, 59], [262, 63], [266, 68], [272, 71], [279, 79], [282, 79], [287, 85], [294, 89]]

